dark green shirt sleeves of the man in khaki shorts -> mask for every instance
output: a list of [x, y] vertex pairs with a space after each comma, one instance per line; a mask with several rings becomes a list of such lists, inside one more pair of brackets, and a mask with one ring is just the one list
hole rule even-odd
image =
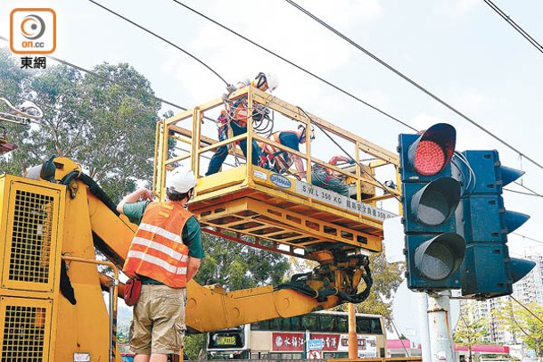
[[[122, 212], [131, 223], [139, 225], [144, 217], [144, 211], [149, 201], [125, 203]], [[202, 246], [202, 233], [198, 220], [193, 216], [186, 220], [181, 232], [183, 243], [188, 247], [188, 255], [193, 258], [202, 259], [205, 257]]]

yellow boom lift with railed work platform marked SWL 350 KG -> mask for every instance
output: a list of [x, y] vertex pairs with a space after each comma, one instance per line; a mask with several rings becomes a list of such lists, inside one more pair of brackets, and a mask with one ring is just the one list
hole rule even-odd
[[[273, 110], [276, 123], [312, 125], [331, 135], [357, 162], [350, 168], [330, 165], [316, 157], [317, 142], [295, 152], [253, 132], [251, 122], [247, 134], [217, 142], [205, 135], [210, 124], [202, 121], [224, 109], [222, 98], [158, 122], [153, 177], [158, 199], [165, 197], [167, 169], [191, 166], [199, 179], [190, 210], [203, 231], [319, 264], [283, 285], [242, 291], [191, 281], [187, 326], [212, 331], [364, 300], [372, 281], [367, 255], [382, 250], [383, 220], [393, 216], [377, 204], [399, 196], [377, 181], [376, 173], [390, 167], [398, 184], [397, 155], [251, 86], [229, 95], [226, 103], [239, 97]], [[202, 177], [206, 158], [218, 146], [243, 138], [249, 160]], [[320, 164], [345, 175], [351, 197], [302, 182], [293, 171], [277, 174], [253, 166], [252, 140], [298, 155], [309, 174], [308, 165]], [[231, 152], [230, 159], [243, 161], [239, 147]], [[0, 190], [0, 360], [119, 361], [118, 274], [136, 226], [119, 217], [100, 186], [66, 158], [30, 169], [26, 177], [0, 176]], [[96, 259], [95, 249], [108, 260]], [[111, 267], [111, 276], [98, 271], [101, 264]], [[109, 292], [107, 304], [103, 290]]]

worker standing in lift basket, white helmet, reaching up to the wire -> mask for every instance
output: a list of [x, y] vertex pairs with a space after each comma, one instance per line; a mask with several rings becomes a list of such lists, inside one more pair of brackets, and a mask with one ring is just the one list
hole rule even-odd
[[[259, 72], [254, 80], [245, 79], [237, 83], [236, 86], [228, 85], [226, 87], [229, 93], [234, 92], [236, 89], [243, 88], [243, 86], [254, 86], [259, 90], [271, 93], [279, 85], [276, 76], [272, 73]], [[231, 136], [239, 136], [247, 133], [247, 119], [248, 109], [247, 97], [240, 97], [230, 103], [225, 96], [225, 102], [227, 103], [226, 111], [223, 111], [218, 118], [218, 140], [224, 141], [228, 138], [228, 133], [231, 131]], [[260, 120], [263, 117], [267, 117], [266, 107], [253, 107], [252, 119]], [[243, 155], [247, 158], [247, 140], [243, 139], [239, 142]], [[221, 146], [217, 148], [217, 151], [213, 154], [210, 160], [210, 166], [208, 167], [205, 176], [216, 174], [221, 168], [223, 162], [228, 155], [228, 146]], [[252, 142], [251, 160], [253, 165], [259, 164], [259, 148], [255, 141]]]

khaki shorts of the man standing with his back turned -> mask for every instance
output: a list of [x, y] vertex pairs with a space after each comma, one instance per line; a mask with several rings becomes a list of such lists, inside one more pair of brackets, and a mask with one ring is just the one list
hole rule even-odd
[[186, 288], [142, 285], [130, 326], [130, 350], [136, 354], [179, 354], [185, 338]]

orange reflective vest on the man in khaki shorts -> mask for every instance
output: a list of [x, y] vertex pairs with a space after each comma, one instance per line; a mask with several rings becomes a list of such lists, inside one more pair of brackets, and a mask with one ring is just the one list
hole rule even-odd
[[147, 276], [172, 288], [184, 288], [188, 247], [181, 231], [191, 216], [176, 202], [150, 202], [122, 271], [127, 276]]

